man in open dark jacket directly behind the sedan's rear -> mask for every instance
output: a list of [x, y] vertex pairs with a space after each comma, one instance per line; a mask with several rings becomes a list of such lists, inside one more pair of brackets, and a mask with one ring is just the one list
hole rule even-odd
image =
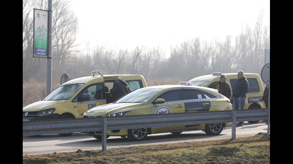
[[214, 89], [218, 90], [219, 93], [231, 99], [231, 88], [228, 82], [226, 82], [227, 77], [225, 75], [220, 76], [220, 80], [213, 86]]

